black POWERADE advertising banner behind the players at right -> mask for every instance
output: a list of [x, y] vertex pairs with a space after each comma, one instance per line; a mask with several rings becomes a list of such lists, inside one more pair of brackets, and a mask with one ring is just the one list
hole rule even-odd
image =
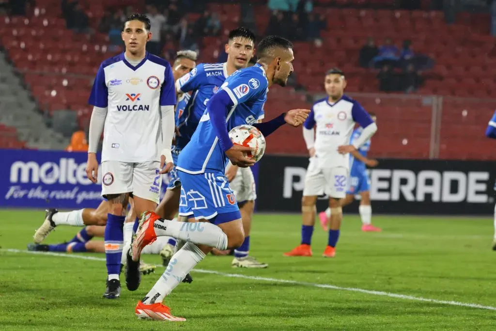
[[[259, 211], [301, 211], [309, 159], [263, 158], [258, 174]], [[374, 213], [493, 214], [496, 162], [382, 159], [370, 170]], [[325, 209], [320, 199], [318, 209]], [[345, 211], [356, 211], [357, 203]]]

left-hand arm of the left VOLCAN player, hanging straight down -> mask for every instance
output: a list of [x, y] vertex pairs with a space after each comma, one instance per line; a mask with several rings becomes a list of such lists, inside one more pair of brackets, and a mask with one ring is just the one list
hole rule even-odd
[[100, 66], [96, 73], [88, 100], [88, 103], [93, 105], [93, 112], [91, 113], [88, 133], [88, 162], [86, 165], [86, 175], [93, 183], [96, 183], [98, 178], [96, 152], [98, 149], [98, 142], [102, 136], [105, 119], [107, 118], [108, 102], [109, 91], [107, 84], [105, 83], [105, 70], [103, 69], [103, 66]]

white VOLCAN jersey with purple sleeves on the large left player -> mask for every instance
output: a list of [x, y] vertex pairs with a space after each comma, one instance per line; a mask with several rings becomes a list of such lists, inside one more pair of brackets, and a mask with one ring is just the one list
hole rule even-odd
[[129, 64], [124, 53], [105, 60], [89, 104], [107, 107], [102, 162], [160, 160], [160, 106], [176, 104], [174, 76], [167, 61], [149, 53], [137, 66]]

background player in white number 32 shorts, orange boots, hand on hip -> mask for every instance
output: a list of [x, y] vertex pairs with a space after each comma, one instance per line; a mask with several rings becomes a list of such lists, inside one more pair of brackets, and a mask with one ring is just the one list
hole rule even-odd
[[[328, 70], [324, 87], [328, 97], [313, 104], [303, 129], [310, 164], [303, 189], [302, 241], [291, 252], [285, 253], [285, 256], [312, 255], [310, 242], [315, 224], [315, 203], [317, 196], [327, 193], [331, 217], [323, 257], [334, 257], [343, 218], [341, 200], [345, 197], [348, 180], [348, 153], [364, 145], [377, 131], [377, 126], [364, 108], [344, 95], [346, 79], [343, 71], [337, 68]], [[355, 123], [364, 129], [353, 144], [349, 144]], [[316, 130], [313, 131], [315, 126]]]

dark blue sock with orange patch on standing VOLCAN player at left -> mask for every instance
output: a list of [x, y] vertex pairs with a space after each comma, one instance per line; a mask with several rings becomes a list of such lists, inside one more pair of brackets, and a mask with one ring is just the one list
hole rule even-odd
[[124, 246], [124, 220], [125, 216], [107, 214], [107, 226], [105, 227], [105, 257], [107, 260], [107, 272], [119, 274], [121, 270], [121, 255]]

